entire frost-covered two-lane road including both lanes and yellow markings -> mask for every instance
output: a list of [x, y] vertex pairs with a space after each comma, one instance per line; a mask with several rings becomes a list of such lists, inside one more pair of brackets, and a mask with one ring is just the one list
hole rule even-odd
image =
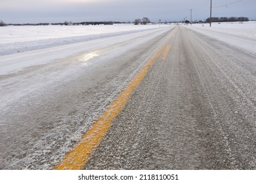
[[1, 56], [0, 169], [256, 169], [251, 41], [178, 25]]

